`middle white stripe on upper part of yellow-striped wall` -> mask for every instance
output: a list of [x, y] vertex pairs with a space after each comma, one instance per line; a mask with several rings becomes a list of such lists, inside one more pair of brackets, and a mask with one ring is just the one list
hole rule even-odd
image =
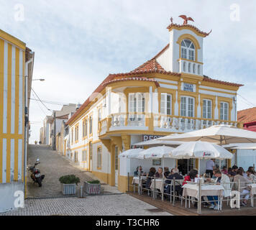
[[12, 45], [12, 98], [11, 98], [11, 133], [15, 132], [15, 47]]

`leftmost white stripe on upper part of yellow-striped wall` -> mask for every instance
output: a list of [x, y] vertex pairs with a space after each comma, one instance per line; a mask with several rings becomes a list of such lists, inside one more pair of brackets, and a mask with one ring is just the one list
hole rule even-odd
[[8, 93], [8, 44], [4, 42], [4, 114], [3, 114], [3, 132], [7, 133], [7, 93]]

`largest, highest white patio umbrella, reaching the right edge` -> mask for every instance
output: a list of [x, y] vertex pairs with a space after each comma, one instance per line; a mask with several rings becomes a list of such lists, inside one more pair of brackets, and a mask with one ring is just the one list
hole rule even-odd
[[193, 132], [186, 132], [184, 134], [160, 137], [157, 140], [182, 140], [183, 142], [196, 142], [201, 140], [202, 142], [212, 142], [216, 144], [256, 143], [256, 132], [221, 124]]

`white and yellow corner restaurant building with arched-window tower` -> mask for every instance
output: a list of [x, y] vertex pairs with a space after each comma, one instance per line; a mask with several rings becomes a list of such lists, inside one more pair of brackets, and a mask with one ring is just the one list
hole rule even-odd
[[[209, 33], [190, 24], [172, 23], [168, 30], [163, 50], [129, 73], [109, 75], [67, 122], [64, 155], [121, 191], [139, 162], [118, 155], [144, 137], [214, 124], [240, 126], [237, 91], [242, 85], [204, 75], [203, 41]], [[151, 166], [152, 160], [144, 162], [145, 171]]]

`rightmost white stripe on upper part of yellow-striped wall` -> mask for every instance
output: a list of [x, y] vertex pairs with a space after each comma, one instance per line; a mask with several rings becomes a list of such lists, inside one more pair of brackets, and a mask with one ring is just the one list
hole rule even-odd
[[19, 134], [23, 134], [23, 52], [19, 51]]

